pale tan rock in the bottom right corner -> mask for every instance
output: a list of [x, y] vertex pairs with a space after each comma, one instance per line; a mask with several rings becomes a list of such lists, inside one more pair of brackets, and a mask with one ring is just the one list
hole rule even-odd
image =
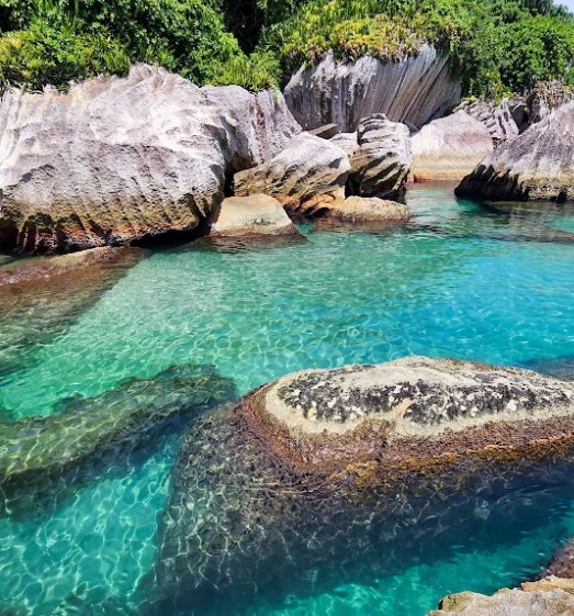
[[427, 616], [574, 616], [574, 582], [549, 578], [503, 589], [493, 596], [463, 592], [444, 597]]

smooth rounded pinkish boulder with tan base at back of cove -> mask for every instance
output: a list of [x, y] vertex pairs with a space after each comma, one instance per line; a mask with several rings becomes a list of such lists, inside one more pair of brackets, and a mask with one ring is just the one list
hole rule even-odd
[[415, 181], [462, 180], [494, 149], [487, 127], [464, 111], [423, 126], [412, 144]]

